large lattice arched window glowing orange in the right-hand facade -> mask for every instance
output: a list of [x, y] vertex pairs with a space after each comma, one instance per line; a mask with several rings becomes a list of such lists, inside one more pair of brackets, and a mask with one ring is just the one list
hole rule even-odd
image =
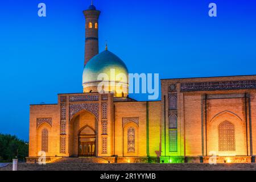
[[235, 127], [229, 121], [218, 126], [218, 151], [236, 151]]

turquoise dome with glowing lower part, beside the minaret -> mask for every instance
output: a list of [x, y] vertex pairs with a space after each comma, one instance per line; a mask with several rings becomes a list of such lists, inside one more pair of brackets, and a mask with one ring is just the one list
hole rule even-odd
[[82, 74], [82, 84], [101, 81], [98, 80], [98, 75], [101, 73], [108, 75], [108, 81], [119, 81], [110, 80], [110, 69], [115, 69], [115, 76], [117, 76], [119, 73], [123, 73], [127, 76], [127, 79], [129, 78], [128, 69], [125, 63], [123, 63], [118, 56], [114, 55], [114, 53], [105, 50], [94, 56], [85, 65], [84, 73]]

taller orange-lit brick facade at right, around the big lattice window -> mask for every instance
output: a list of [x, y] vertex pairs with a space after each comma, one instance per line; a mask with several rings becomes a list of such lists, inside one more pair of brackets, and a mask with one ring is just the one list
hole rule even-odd
[[[170, 112], [167, 107], [168, 93], [170, 93], [170, 85], [177, 87], [177, 143], [179, 150], [176, 154], [170, 152], [167, 154], [170, 156], [210, 156], [215, 152], [219, 156], [255, 155], [253, 126], [256, 123], [254, 112], [256, 90], [253, 88], [253, 84], [237, 84], [245, 81], [253, 83], [253, 80], [256, 80], [256, 76], [162, 80], [162, 105], [166, 98], [166, 133], [168, 132], [168, 112]], [[209, 83], [213, 82], [221, 86], [211, 87], [212, 90], [209, 90]], [[226, 83], [229, 84], [225, 86]], [[232, 85], [233, 83], [236, 84]], [[185, 88], [185, 84], [192, 86]], [[181, 85], [183, 85], [183, 90], [180, 90]], [[196, 88], [195, 85], [204, 86]], [[247, 86], [249, 89], [245, 89], [243, 86], [245, 88]], [[162, 109], [163, 112], [164, 109]], [[225, 121], [232, 123], [235, 128], [236, 150], [234, 151], [219, 151], [218, 127]], [[164, 115], [162, 126], [164, 126]], [[162, 130], [162, 139], [164, 138], [163, 132]], [[167, 134], [166, 145], [168, 146]]]

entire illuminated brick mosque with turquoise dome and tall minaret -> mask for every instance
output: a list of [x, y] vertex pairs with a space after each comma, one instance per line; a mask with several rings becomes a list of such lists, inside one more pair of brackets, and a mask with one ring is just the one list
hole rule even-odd
[[99, 53], [100, 14], [93, 4], [84, 11], [83, 92], [30, 106], [27, 162], [40, 151], [47, 161], [208, 163], [216, 155], [218, 163], [255, 162], [256, 76], [161, 80], [160, 101], [136, 101], [129, 80], [111, 75], [128, 78], [125, 62], [107, 46]]

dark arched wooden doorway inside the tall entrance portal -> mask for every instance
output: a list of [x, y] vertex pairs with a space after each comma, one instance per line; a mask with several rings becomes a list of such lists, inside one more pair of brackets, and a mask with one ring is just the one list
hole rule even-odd
[[85, 126], [79, 133], [79, 156], [96, 156], [96, 133], [89, 126]]

